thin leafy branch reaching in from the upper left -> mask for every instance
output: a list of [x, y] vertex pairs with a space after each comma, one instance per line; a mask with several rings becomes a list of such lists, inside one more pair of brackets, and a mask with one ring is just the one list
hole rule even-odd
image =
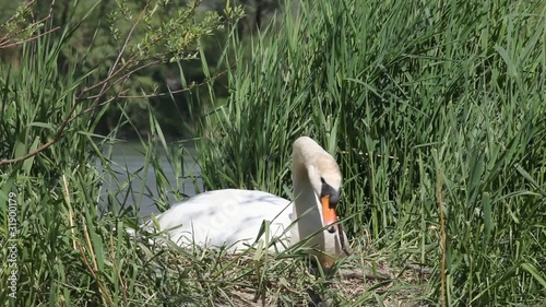
[[[162, 4], [165, 5], [167, 2], [169, 1], [162, 1]], [[28, 13], [32, 3], [34, 3], [34, 1], [27, 3], [23, 11]], [[235, 10], [226, 9], [225, 17], [221, 17], [216, 13], [207, 13], [201, 22], [193, 22], [192, 20], [194, 20], [197, 15], [197, 9], [201, 3], [201, 1], [197, 1], [190, 4], [187, 9], [178, 10], [175, 19], [161, 23], [158, 26], [154, 26], [151, 21], [153, 20], [154, 14], [158, 12], [158, 1], [149, 0], [135, 19], [133, 19], [132, 14], [129, 12], [127, 2], [117, 1], [117, 3], [118, 10], [112, 13], [114, 23], [110, 28], [112, 37], [115, 39], [119, 39], [120, 37], [120, 27], [116, 26], [116, 23], [119, 23], [117, 16], [121, 15], [123, 17], [123, 22], [131, 24], [131, 27], [127, 31], [116, 59], [108, 69], [107, 74], [93, 85], [85, 86], [81, 90], [81, 92], [74, 97], [68, 115], [64, 117], [54, 137], [49, 141], [22, 156], [1, 160], [0, 165], [19, 163], [44, 152], [51, 145], [59, 142], [70, 122], [83, 114], [104, 107], [116, 99], [136, 98], [136, 96], [127, 95], [129, 90], [126, 85], [131, 80], [132, 75], [152, 66], [197, 58], [197, 54], [191, 50], [199, 44], [201, 38], [213, 34], [214, 31], [224, 28], [226, 23], [237, 21], [242, 16], [242, 10], [240, 8]], [[47, 19], [51, 17], [51, 8], [54, 4], [55, 1], [51, 2], [49, 14], [46, 19], [32, 23], [25, 28], [40, 27], [38, 25], [43, 25]], [[21, 10], [17, 10], [17, 12]], [[15, 21], [20, 21], [20, 14], [22, 13], [15, 14], [14, 17], [10, 19], [7, 23], [11, 24]], [[29, 42], [37, 37], [50, 34], [54, 29], [46, 31], [39, 35], [29, 36], [24, 42]], [[134, 38], [136, 32], [144, 32], [142, 39]], [[14, 36], [15, 35], [8, 35], [7, 37], [10, 38]], [[14, 46], [14, 44], [5, 46]], [[93, 71], [94, 69], [92, 69], [90, 73]], [[205, 84], [224, 73], [225, 72], [221, 72], [200, 84], [193, 83], [191, 86], [177, 92], [191, 91], [192, 88]], [[156, 95], [162, 94], [142, 95], [140, 98], [153, 97]], [[81, 113], [76, 114], [79, 106], [88, 101], [92, 101], [91, 105]]]

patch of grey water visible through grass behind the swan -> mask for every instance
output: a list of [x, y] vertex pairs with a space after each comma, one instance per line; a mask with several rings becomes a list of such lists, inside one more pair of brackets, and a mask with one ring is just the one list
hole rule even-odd
[[[178, 150], [179, 144], [173, 144], [173, 149]], [[106, 149], [107, 153], [109, 149]], [[99, 202], [109, 208], [107, 210], [120, 210], [129, 206], [140, 208], [141, 215], [157, 213], [157, 202], [164, 202], [165, 205], [174, 203], [177, 200], [175, 191], [186, 196], [195, 194], [195, 186], [202, 190], [202, 184], [198, 179], [189, 178], [188, 175], [199, 176], [199, 167], [192, 156], [195, 155], [195, 147], [190, 143], [185, 143], [182, 156], [173, 165], [168, 162], [163, 149], [157, 150], [155, 157], [159, 167], [169, 182], [165, 190], [157, 190], [156, 172], [153, 165], [149, 165], [147, 173], [144, 174], [145, 152], [139, 142], [118, 142], [111, 145], [111, 169], [115, 177], [105, 176], [103, 191]], [[183, 162], [183, 165], [182, 165]], [[97, 163], [99, 169], [104, 169]], [[134, 175], [132, 175], [134, 174]], [[177, 180], [178, 177], [178, 180]], [[185, 178], [188, 177], [188, 178]], [[132, 180], [129, 180], [132, 178]], [[116, 180], [119, 182], [117, 184]], [[143, 192], [141, 192], [144, 184]], [[107, 201], [108, 194], [116, 196], [117, 202]]]

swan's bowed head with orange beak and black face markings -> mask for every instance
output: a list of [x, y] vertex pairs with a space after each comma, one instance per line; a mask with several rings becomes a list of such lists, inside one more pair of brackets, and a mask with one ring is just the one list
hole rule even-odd
[[[335, 208], [340, 202], [342, 175], [340, 166], [332, 155], [324, 151], [312, 139], [302, 137], [294, 143], [294, 163], [305, 165], [307, 178], [320, 200], [323, 226], [330, 233], [335, 232], [337, 222]], [[296, 165], [295, 165], [296, 166]], [[300, 172], [305, 172], [299, 168]], [[301, 178], [295, 178], [295, 182]]]

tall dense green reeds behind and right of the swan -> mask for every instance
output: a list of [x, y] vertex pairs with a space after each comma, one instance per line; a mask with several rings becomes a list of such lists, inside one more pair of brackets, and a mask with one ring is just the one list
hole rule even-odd
[[204, 123], [204, 182], [290, 197], [290, 144], [309, 134], [341, 163], [345, 228], [434, 268], [435, 303], [544, 304], [541, 4], [301, 2], [250, 47], [234, 37], [226, 54], [251, 59]]

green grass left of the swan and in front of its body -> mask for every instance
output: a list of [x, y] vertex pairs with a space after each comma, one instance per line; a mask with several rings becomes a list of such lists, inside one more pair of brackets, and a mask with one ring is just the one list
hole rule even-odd
[[[84, 71], [78, 64], [59, 68], [73, 34], [62, 31], [59, 37], [26, 43], [20, 67], [0, 63], [2, 162], [56, 140], [78, 95], [99, 78], [95, 70], [74, 78]], [[143, 196], [152, 193], [145, 184], [133, 188], [132, 180], [154, 172], [155, 202], [165, 210], [168, 193], [182, 198], [185, 149], [168, 145], [150, 108], [151, 130], [140, 139], [142, 168], [116, 165], [108, 150], [119, 142], [116, 130], [95, 135], [104, 109], [85, 113], [87, 103], [75, 107], [80, 116], [57, 143], [0, 165], [0, 306], [292, 305], [307, 302], [307, 288], [327, 288], [325, 279], [306, 273], [305, 262], [275, 260], [262, 249], [232, 256], [130, 237], [124, 229], [140, 222]], [[136, 130], [127, 114], [119, 118], [121, 126]], [[173, 167], [174, 182], [166, 180], [158, 151]], [[135, 208], [128, 208], [128, 199]], [[277, 287], [269, 286], [280, 280]]]

